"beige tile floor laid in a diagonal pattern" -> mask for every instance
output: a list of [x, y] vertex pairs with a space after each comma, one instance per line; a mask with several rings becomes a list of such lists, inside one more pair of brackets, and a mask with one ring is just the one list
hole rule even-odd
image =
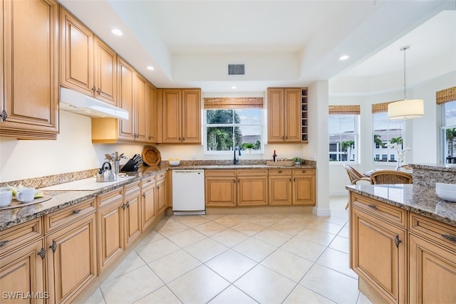
[[348, 268], [346, 196], [331, 216], [167, 216], [86, 303], [370, 303]]

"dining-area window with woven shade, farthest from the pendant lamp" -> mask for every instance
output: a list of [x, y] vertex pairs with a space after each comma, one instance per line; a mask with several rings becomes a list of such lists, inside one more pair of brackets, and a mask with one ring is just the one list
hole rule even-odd
[[357, 162], [359, 105], [329, 107], [329, 161]]

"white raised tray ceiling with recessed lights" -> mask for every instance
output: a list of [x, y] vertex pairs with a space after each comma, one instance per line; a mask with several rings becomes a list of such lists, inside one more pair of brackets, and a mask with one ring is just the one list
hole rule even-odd
[[[60, 2], [159, 88], [246, 93], [378, 77], [403, 69], [403, 45], [410, 68], [427, 66], [423, 77], [445, 73], [429, 71], [437, 59], [456, 70], [454, 0]], [[229, 63], [245, 75], [228, 75]]]

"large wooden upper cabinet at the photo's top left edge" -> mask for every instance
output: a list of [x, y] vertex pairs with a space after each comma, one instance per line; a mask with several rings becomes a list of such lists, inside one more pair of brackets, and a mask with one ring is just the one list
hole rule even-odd
[[56, 139], [58, 4], [2, 1], [0, 135]]

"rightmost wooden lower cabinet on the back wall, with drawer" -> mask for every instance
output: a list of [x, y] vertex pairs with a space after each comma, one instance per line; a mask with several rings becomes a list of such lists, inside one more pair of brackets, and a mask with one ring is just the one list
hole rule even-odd
[[316, 204], [315, 169], [293, 169], [293, 204]]

